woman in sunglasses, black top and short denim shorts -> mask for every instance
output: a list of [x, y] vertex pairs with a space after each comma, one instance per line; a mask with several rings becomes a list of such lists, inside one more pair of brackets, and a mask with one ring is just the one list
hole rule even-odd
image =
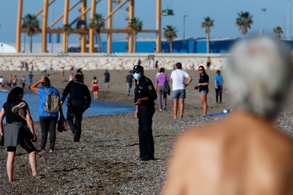
[[197, 88], [200, 92], [200, 100], [203, 106], [203, 115], [207, 114], [207, 94], [209, 93], [209, 76], [205, 72], [205, 68], [203, 66], [198, 67], [198, 71], [200, 72], [200, 80], [197, 84]]

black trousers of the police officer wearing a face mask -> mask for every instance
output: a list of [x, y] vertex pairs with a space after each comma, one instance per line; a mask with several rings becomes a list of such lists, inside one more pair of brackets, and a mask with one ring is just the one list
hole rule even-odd
[[154, 138], [151, 125], [155, 108], [138, 108], [139, 157], [154, 159]]

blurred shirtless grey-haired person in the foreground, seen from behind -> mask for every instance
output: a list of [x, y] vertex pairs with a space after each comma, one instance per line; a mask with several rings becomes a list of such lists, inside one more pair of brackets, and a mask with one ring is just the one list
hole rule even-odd
[[164, 194], [293, 194], [293, 143], [271, 125], [290, 92], [290, 49], [267, 37], [236, 43], [226, 78], [233, 114], [180, 136]]

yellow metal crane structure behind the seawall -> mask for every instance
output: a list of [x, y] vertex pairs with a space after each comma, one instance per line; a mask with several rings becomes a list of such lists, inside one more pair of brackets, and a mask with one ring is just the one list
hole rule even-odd
[[[52, 24], [47, 26], [47, 16], [48, 16], [48, 6], [52, 4], [56, 0], [44, 0], [44, 6], [40, 9], [34, 16], [38, 16], [40, 13], [43, 13], [42, 17], [42, 29], [35, 29], [35, 33], [42, 33], [42, 52], [47, 51], [47, 33], [62, 33], [61, 28], [52, 28], [53, 25], [63, 18], [63, 25], [68, 24], [68, 15], [69, 11], [73, 9], [76, 5], [81, 3], [81, 14], [70, 24], [73, 25], [78, 20], [86, 20], [86, 13], [91, 10], [90, 20], [93, 19], [93, 15], [96, 13], [96, 4], [101, 0], [91, 0], [91, 6], [86, 8], [86, 0], [77, 0], [71, 7], [69, 7], [70, 0], [64, 0], [64, 13], [60, 15]], [[125, 29], [113, 29], [112, 28], [112, 15], [120, 9], [123, 5], [128, 2], [128, 19], [129, 21], [134, 18], [134, 0], [114, 0], [116, 3], [120, 3], [114, 10], [112, 10], [112, 2], [113, 0], [108, 1], [108, 15], [103, 19], [103, 21], [107, 21], [107, 28], [100, 29], [100, 33], [108, 34], [107, 38], [107, 53], [112, 53], [112, 34], [113, 33], [127, 33], [129, 34], [128, 39], [128, 52], [133, 52], [133, 31], [129, 28]], [[17, 13], [17, 22], [16, 22], [16, 51], [19, 53], [21, 48], [21, 33], [27, 32], [27, 30], [21, 28], [21, 18], [22, 18], [22, 8], [23, 8], [23, 0], [18, 0], [18, 13]], [[127, 24], [128, 25], [128, 24]], [[142, 29], [142, 33], [156, 33], [156, 52], [161, 52], [161, 0], [156, 0], [156, 29]], [[72, 33], [81, 34], [81, 52], [86, 52], [86, 35], [89, 35], [89, 53], [93, 53], [94, 51], [94, 32], [92, 28], [73, 28]], [[66, 39], [67, 36], [65, 32], [62, 36], [62, 44], [63, 44], [63, 52], [66, 51]]]

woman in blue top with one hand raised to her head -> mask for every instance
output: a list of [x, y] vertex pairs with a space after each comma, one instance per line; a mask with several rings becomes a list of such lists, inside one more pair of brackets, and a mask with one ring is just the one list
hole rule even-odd
[[[38, 84], [42, 83], [42, 87], [38, 87]], [[51, 93], [54, 95], [59, 95], [59, 91], [50, 85], [50, 79], [47, 76], [42, 76], [42, 78], [30, 86], [30, 89], [40, 95], [40, 106], [39, 106], [39, 117], [41, 126], [41, 150], [39, 154], [45, 152], [45, 146], [48, 138], [48, 131], [50, 134], [50, 149], [49, 152], [54, 152], [54, 145], [56, 140], [56, 124], [58, 121], [58, 114], [52, 114], [45, 112], [44, 106], [46, 106], [46, 96]], [[48, 92], [48, 93], [47, 93]], [[62, 106], [59, 100], [59, 112], [60, 117], [64, 118]]]

